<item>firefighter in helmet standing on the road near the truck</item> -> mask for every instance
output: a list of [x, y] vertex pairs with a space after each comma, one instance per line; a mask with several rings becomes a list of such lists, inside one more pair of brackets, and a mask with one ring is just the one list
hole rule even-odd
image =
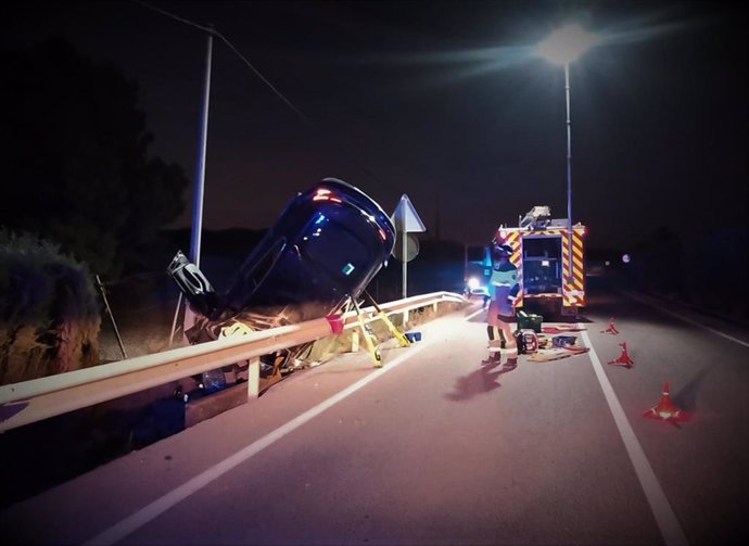
[[488, 334], [488, 357], [482, 364], [498, 364], [502, 360], [500, 350], [507, 354], [505, 369], [518, 366], [518, 344], [512, 335], [515, 321], [515, 301], [520, 285], [518, 268], [510, 262], [512, 247], [506, 243], [495, 243], [492, 253], [492, 277], [490, 291], [492, 301], [486, 312], [486, 332]]

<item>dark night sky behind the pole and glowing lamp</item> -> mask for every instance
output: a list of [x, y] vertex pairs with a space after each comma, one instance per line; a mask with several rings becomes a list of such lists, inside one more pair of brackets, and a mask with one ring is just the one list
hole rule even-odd
[[[149, 5], [186, 20], [177, 21]], [[485, 242], [534, 205], [567, 216], [563, 68], [533, 46], [570, 16], [573, 219], [627, 250], [747, 226], [742, 2], [10, 2], [3, 46], [62, 36], [139, 86], [150, 152], [192, 179], [214, 39], [204, 229], [269, 227], [325, 177], [427, 237]], [[240, 53], [284, 102], [237, 54]], [[295, 109], [295, 110], [294, 110]], [[189, 190], [183, 218], [190, 221]]]

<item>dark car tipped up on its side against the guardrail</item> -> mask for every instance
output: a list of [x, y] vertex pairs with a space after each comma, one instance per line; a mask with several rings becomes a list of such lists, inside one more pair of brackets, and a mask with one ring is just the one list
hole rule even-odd
[[354, 186], [326, 178], [287, 204], [228, 290], [217, 292], [177, 253], [167, 272], [198, 314], [185, 334], [194, 344], [339, 312], [386, 265], [394, 241], [380, 205]]

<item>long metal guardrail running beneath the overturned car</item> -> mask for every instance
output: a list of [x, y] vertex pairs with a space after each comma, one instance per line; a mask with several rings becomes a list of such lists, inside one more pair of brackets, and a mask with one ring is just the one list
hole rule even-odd
[[[433, 292], [380, 305], [386, 315], [465, 303], [450, 292]], [[377, 320], [372, 307], [360, 309], [365, 322]], [[0, 432], [177, 381], [229, 364], [250, 360], [247, 391], [258, 395], [259, 356], [358, 327], [356, 312], [224, 338], [81, 370], [0, 386]]]

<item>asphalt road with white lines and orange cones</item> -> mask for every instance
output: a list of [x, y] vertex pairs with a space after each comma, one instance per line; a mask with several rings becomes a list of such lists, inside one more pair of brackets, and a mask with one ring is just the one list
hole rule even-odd
[[[478, 315], [475, 314], [477, 312]], [[602, 333], [613, 318], [619, 334]], [[482, 367], [477, 306], [0, 512], [15, 544], [739, 544], [749, 331], [624, 294], [591, 352]], [[631, 368], [607, 363], [625, 342]], [[690, 419], [643, 412], [661, 396]], [[53, 454], [50, 454], [53, 456]], [[5, 542], [8, 544], [8, 542]]]

